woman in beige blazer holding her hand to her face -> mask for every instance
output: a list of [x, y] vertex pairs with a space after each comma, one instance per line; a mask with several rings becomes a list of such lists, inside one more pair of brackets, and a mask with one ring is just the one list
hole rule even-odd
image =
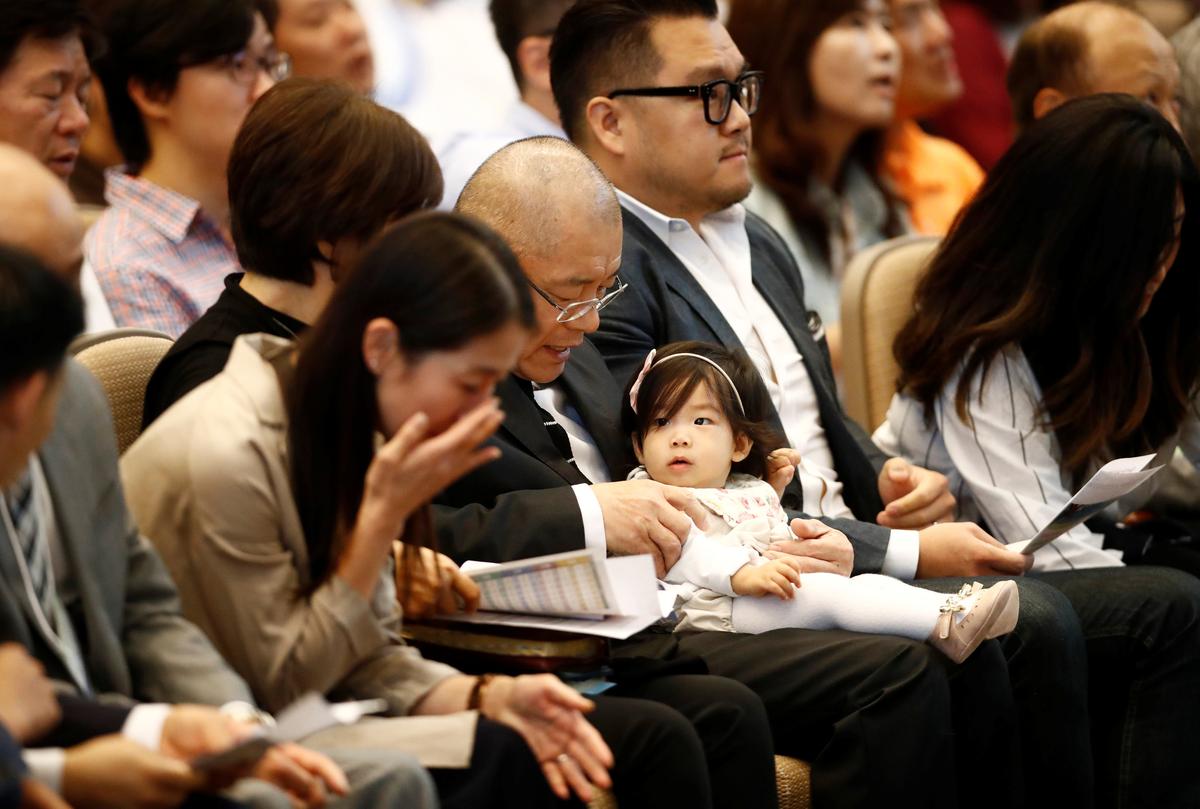
[[428, 502], [498, 456], [482, 445], [503, 419], [492, 391], [533, 323], [498, 236], [413, 216], [299, 344], [238, 338], [226, 368], [142, 435], [122, 460], [131, 509], [185, 613], [265, 707], [318, 691], [439, 717], [370, 738], [430, 766], [443, 807], [558, 805], [594, 786], [623, 808], [709, 807], [703, 748], [666, 706], [587, 700], [552, 675], [470, 677], [400, 640], [397, 594], [433, 543]]

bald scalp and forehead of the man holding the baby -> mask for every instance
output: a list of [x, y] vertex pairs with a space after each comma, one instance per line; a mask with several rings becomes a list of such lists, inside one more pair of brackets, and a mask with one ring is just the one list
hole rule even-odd
[[455, 209], [484, 221], [518, 256], [554, 256], [580, 226], [620, 229], [612, 184], [560, 138], [528, 138], [500, 149], [470, 178]]

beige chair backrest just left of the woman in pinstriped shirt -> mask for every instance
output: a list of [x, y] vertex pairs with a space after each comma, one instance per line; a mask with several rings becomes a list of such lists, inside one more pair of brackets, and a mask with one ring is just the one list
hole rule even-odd
[[912, 295], [941, 240], [900, 236], [854, 256], [841, 282], [842, 403], [871, 432], [887, 418], [900, 372], [892, 355]]

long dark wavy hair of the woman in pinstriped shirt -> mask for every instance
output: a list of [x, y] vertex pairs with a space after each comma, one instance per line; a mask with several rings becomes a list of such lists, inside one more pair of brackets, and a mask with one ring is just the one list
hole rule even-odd
[[[1195, 166], [1166, 120], [1098, 95], [1037, 121], [991, 170], [917, 287], [895, 342], [899, 388], [925, 407], [1009, 344], [1042, 388], [1039, 418], [1079, 478], [1103, 456], [1152, 451], [1176, 430], [1200, 373]], [[1187, 215], [1174, 269], [1139, 319], [1147, 283]]]

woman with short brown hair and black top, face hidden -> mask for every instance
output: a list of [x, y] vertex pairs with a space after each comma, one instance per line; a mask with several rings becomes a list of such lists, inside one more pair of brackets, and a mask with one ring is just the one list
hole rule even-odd
[[250, 110], [229, 158], [238, 260], [146, 388], [143, 424], [224, 367], [239, 335], [295, 337], [367, 241], [432, 208], [442, 170], [420, 132], [334, 80], [288, 79]]

